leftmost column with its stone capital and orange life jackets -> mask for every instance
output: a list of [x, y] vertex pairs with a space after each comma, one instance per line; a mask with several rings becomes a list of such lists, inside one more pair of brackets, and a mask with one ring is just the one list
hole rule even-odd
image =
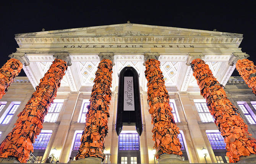
[[20, 73], [23, 64], [25, 66], [29, 65], [28, 58], [24, 53], [13, 53], [9, 57], [11, 59], [0, 68], [0, 99], [5, 95], [7, 88]]

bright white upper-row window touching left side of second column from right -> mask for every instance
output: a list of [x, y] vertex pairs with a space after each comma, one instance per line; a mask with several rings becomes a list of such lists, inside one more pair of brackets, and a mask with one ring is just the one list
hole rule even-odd
[[202, 122], [214, 122], [214, 118], [212, 117], [212, 115], [207, 107], [206, 102], [202, 102], [202, 101], [200, 102], [198, 100], [194, 100], [194, 104], [196, 105], [196, 109], [198, 111], [201, 121]]

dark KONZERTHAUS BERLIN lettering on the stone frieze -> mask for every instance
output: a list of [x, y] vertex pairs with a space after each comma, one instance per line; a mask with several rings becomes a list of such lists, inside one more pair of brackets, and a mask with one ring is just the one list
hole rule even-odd
[[[194, 48], [194, 45], [148, 45], [152, 48]], [[143, 48], [143, 45], [64, 45], [63, 48]]]

